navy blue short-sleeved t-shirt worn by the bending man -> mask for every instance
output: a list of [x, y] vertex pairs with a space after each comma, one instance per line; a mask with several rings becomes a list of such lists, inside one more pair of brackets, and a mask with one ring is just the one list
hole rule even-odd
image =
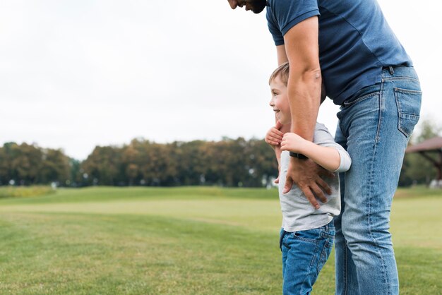
[[276, 45], [284, 44], [290, 28], [312, 16], [319, 20], [325, 90], [335, 104], [380, 83], [385, 66], [412, 66], [376, 0], [268, 0], [268, 28]]

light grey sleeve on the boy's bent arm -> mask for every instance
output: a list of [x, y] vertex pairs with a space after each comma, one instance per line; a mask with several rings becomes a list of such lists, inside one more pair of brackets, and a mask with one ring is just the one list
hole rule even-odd
[[350, 155], [348, 155], [348, 152], [342, 148], [342, 145], [335, 142], [335, 139], [330, 134], [327, 127], [325, 127], [323, 124], [316, 123], [313, 143], [338, 150], [340, 155], [340, 164], [338, 169], [336, 169], [334, 172], [345, 172], [350, 169], [350, 166], [352, 165]]

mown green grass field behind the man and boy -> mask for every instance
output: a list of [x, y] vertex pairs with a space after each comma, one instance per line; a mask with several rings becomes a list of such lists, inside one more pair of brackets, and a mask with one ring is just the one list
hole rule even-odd
[[[442, 294], [442, 191], [398, 191], [401, 294]], [[281, 294], [275, 190], [59, 189], [0, 198], [0, 294]], [[313, 294], [333, 294], [330, 258]]]

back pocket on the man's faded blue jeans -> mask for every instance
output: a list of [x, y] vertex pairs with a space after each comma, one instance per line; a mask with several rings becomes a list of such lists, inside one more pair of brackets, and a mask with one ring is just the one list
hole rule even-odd
[[398, 106], [398, 129], [409, 137], [419, 121], [422, 91], [395, 88], [395, 99]]

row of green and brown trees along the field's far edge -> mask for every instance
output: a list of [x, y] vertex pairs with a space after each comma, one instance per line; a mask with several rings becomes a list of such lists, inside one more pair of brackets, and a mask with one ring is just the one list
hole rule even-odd
[[[441, 128], [424, 121], [410, 144], [441, 134]], [[122, 146], [97, 146], [84, 161], [35, 144], [0, 147], [0, 185], [260, 187], [276, 176], [275, 154], [258, 139], [165, 144], [133, 139]], [[421, 155], [406, 154], [399, 185], [429, 183], [435, 176], [436, 169]]]

